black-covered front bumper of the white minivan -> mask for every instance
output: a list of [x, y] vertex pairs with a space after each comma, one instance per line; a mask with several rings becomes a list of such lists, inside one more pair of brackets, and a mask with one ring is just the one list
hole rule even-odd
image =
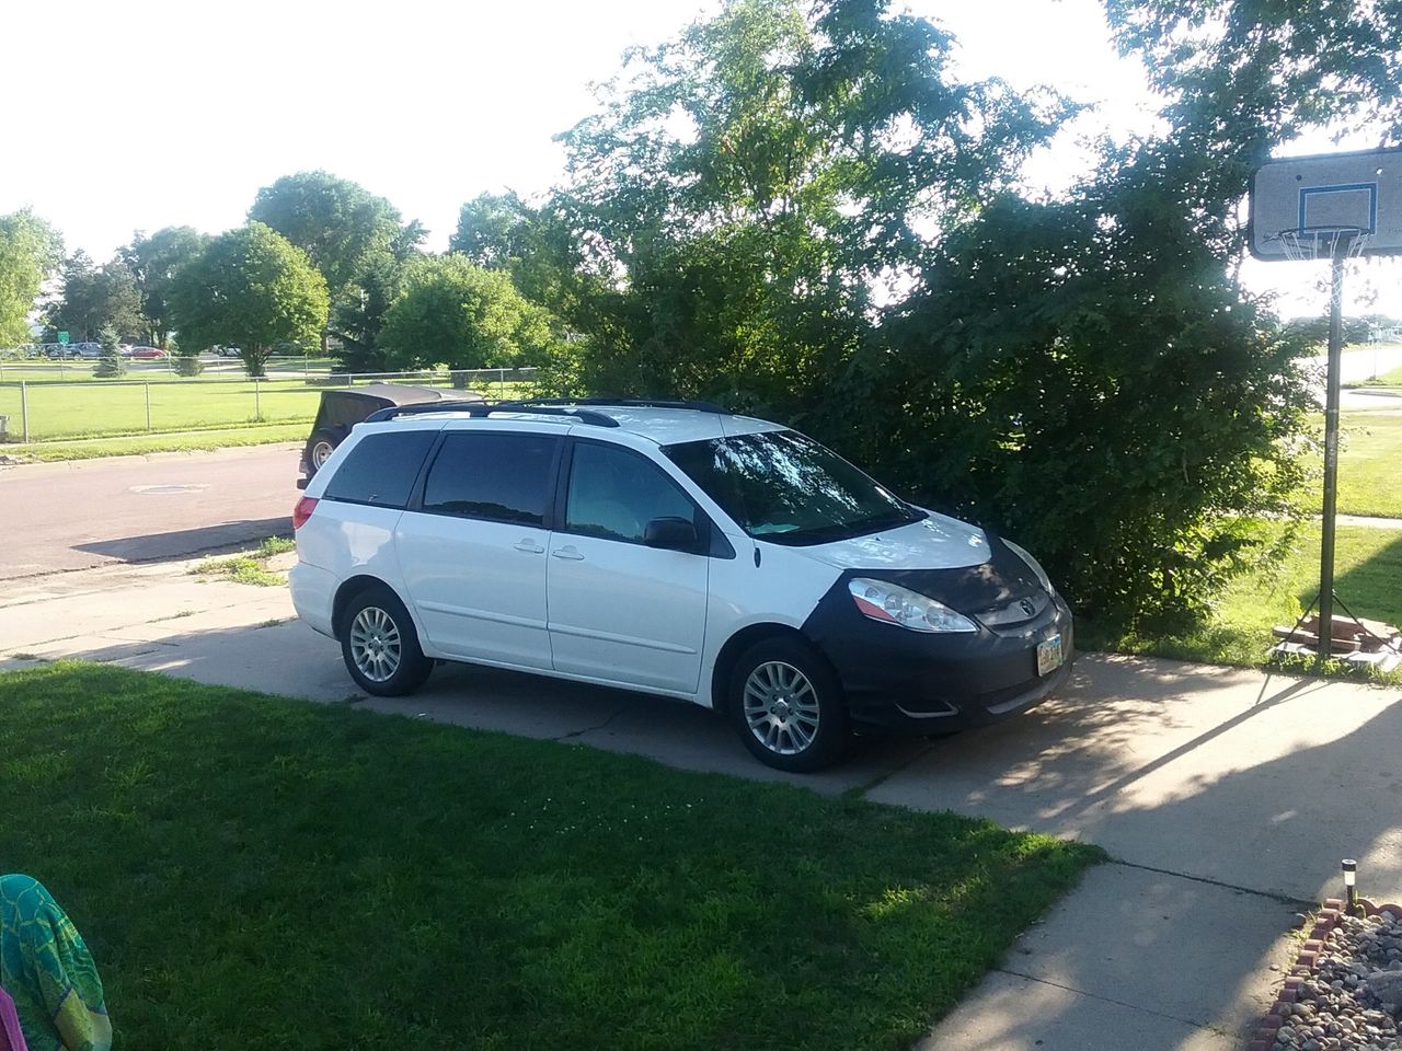
[[[1044, 701], [1071, 671], [1074, 625], [1059, 594], [1018, 625], [927, 635], [862, 617], [845, 580], [838, 586], [803, 629], [837, 671], [858, 729], [938, 734], [993, 723]], [[1039, 675], [1037, 646], [1056, 635], [1064, 661]]]

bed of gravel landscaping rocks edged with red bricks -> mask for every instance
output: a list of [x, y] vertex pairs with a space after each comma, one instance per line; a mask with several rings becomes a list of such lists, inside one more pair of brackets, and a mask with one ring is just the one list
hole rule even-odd
[[1402, 1051], [1402, 919], [1340, 916], [1281, 1013], [1274, 1051]]

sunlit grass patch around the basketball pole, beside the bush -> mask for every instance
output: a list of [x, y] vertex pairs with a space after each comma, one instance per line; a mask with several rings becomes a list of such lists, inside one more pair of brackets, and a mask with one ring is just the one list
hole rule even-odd
[[[1319, 589], [1319, 527], [1300, 531], [1273, 570], [1239, 577], [1207, 624], [1186, 635], [1112, 638], [1085, 625], [1091, 649], [1150, 653], [1211, 664], [1260, 666], [1274, 625], [1291, 626]], [[1402, 530], [1340, 526], [1335, 540], [1335, 591], [1359, 617], [1402, 625]], [[1339, 614], [1343, 610], [1338, 610]], [[1395, 675], [1402, 682], [1402, 674]]]

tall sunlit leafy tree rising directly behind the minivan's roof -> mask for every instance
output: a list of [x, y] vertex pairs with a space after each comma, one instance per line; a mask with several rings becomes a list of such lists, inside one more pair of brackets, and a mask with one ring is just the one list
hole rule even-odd
[[882, 0], [730, 0], [635, 52], [564, 136], [552, 202], [596, 279], [566, 317], [596, 341], [590, 381], [785, 408], [819, 390], [882, 286], [918, 275], [920, 231], [976, 214], [1068, 109], [949, 60]]

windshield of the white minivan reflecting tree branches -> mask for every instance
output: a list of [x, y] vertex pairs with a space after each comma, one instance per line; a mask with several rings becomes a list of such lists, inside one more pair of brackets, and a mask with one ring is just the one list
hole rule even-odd
[[751, 537], [827, 544], [925, 514], [792, 430], [667, 446], [663, 453]]

